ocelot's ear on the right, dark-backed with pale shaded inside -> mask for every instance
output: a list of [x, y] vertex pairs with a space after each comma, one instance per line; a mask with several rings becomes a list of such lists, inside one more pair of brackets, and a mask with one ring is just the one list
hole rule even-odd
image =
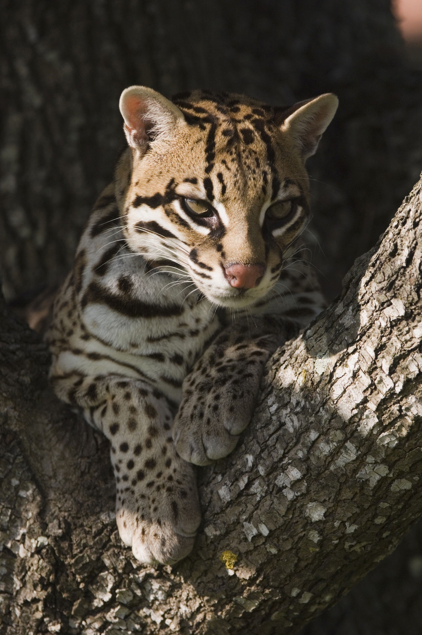
[[292, 138], [303, 161], [317, 152], [322, 133], [327, 130], [338, 105], [336, 95], [325, 93], [314, 99], [297, 102], [283, 113], [285, 118], [281, 128]]

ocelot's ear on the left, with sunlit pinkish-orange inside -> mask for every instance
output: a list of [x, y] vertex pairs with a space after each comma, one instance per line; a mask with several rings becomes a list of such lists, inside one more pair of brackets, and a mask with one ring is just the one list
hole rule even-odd
[[119, 108], [128, 144], [142, 154], [152, 142], [171, 139], [177, 124], [185, 123], [177, 106], [146, 86], [126, 88], [121, 93]]

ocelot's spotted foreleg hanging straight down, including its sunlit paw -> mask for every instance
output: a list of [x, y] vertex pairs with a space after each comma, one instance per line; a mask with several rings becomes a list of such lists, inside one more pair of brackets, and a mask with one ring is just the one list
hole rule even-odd
[[140, 380], [53, 378], [111, 441], [120, 536], [140, 562], [172, 564], [193, 547], [200, 507], [193, 466], [177, 455], [164, 396]]

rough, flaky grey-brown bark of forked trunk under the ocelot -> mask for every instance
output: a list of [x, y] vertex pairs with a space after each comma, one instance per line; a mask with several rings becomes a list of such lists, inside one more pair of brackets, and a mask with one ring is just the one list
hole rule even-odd
[[297, 632], [390, 554], [422, 499], [421, 220], [419, 181], [273, 356], [241, 445], [199, 472], [203, 524], [172, 568], [121, 545], [107, 444], [3, 305], [1, 635]]

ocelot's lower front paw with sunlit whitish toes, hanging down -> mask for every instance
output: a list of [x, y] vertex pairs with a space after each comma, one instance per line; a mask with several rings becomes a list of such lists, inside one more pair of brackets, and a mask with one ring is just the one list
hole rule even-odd
[[170, 434], [151, 431], [162, 436], [153, 438], [151, 451], [144, 446], [137, 456], [137, 448], [129, 448], [127, 458], [117, 469], [114, 465], [116, 521], [121, 539], [140, 562], [172, 565], [189, 554], [200, 524], [196, 478], [193, 466], [177, 455]]

